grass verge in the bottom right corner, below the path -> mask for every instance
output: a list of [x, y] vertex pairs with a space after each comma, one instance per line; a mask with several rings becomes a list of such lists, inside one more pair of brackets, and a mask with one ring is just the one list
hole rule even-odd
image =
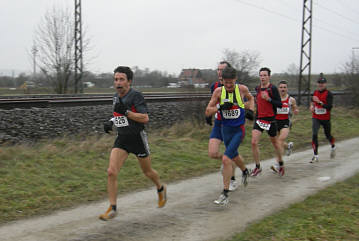
[[250, 225], [230, 241], [359, 240], [358, 187], [359, 174]]

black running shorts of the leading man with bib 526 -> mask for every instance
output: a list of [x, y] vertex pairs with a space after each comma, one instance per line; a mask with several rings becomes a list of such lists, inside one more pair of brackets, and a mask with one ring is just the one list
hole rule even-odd
[[123, 149], [128, 153], [135, 154], [137, 157], [147, 157], [150, 155], [147, 134], [144, 130], [137, 134], [118, 135], [113, 148]]

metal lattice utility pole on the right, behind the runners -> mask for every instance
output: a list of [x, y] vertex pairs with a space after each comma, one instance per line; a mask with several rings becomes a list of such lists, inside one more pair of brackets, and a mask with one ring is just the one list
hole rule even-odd
[[[302, 104], [302, 95], [307, 96], [307, 107], [310, 104], [310, 75], [312, 60], [312, 0], [303, 0], [302, 41], [298, 81], [298, 105]], [[307, 77], [304, 72], [308, 71]]]

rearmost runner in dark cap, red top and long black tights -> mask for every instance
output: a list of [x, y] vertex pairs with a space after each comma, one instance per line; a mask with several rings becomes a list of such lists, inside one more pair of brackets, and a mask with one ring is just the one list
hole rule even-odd
[[310, 110], [312, 112], [312, 147], [314, 156], [310, 163], [319, 161], [318, 158], [318, 131], [322, 125], [324, 134], [330, 142], [332, 149], [330, 151], [330, 158], [334, 158], [336, 154], [335, 139], [331, 135], [330, 111], [333, 107], [333, 94], [327, 90], [327, 80], [323, 77], [323, 73], [317, 81], [318, 89], [314, 91]]

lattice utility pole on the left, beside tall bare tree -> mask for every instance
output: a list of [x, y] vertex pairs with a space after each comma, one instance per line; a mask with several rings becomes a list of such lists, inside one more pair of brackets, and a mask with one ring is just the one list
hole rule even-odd
[[83, 93], [81, 0], [75, 0], [75, 93]]

